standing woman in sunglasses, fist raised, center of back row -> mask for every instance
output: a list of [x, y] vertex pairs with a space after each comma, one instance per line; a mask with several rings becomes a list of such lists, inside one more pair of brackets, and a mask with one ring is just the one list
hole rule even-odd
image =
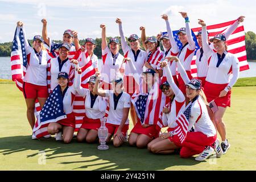
[[[135, 91], [139, 92], [140, 77], [143, 72], [143, 67], [153, 69], [150, 64], [147, 62], [147, 52], [143, 51], [140, 47], [139, 37], [136, 34], [131, 34], [128, 38], [128, 43], [126, 42], [125, 35], [123, 33], [122, 20], [117, 18], [115, 20], [119, 26], [119, 33], [121, 37], [122, 50], [125, 55], [125, 74], [124, 74], [124, 87], [125, 92], [130, 96], [133, 96]], [[127, 62], [128, 61], [128, 62]], [[136, 79], [134, 79], [136, 78]], [[135, 121], [135, 111], [133, 105], [131, 106], [131, 119], [133, 124], [136, 124]]]

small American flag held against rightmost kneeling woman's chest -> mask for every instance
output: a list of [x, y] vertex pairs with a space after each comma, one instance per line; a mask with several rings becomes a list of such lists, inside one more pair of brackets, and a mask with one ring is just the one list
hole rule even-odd
[[185, 110], [175, 119], [177, 126], [174, 129], [175, 135], [180, 139], [180, 143], [183, 143], [187, 132], [188, 132], [188, 123], [191, 113], [192, 102], [189, 102]]

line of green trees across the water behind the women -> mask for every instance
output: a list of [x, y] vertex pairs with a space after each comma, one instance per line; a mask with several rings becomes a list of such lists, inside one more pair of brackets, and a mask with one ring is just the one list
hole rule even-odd
[[[119, 41], [120, 40], [120, 37]], [[107, 42], [109, 42], [110, 37], [107, 38]], [[126, 38], [127, 39], [127, 38]], [[32, 43], [32, 40], [28, 40], [30, 43]], [[61, 42], [60, 40], [56, 42]], [[80, 40], [80, 44], [83, 45], [85, 43], [85, 39]], [[11, 46], [12, 42], [7, 43], [0, 43], [0, 56], [11, 56]], [[246, 45], [246, 53], [247, 53], [247, 59], [248, 60], [256, 60], [256, 34], [252, 31], [248, 31], [245, 33], [245, 45]], [[160, 44], [160, 47], [162, 47], [162, 44]], [[141, 42], [141, 48], [142, 42]], [[163, 48], [163, 47], [162, 47]], [[123, 54], [122, 48], [120, 49], [120, 53]], [[101, 57], [101, 38], [96, 38], [96, 48], [94, 49], [94, 54]]]

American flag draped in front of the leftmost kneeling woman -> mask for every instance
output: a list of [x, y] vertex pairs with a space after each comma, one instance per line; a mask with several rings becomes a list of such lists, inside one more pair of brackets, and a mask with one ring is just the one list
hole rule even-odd
[[[58, 85], [53, 90], [51, 95], [47, 98], [46, 104], [44, 104], [42, 111], [39, 114], [38, 121], [36, 122], [35, 127], [33, 129], [36, 138], [42, 137], [42, 131], [47, 131], [47, 126], [49, 123], [57, 122], [64, 118], [67, 118], [67, 115], [63, 110], [61, 88]], [[46, 132], [46, 134], [47, 133], [48, 132]]]

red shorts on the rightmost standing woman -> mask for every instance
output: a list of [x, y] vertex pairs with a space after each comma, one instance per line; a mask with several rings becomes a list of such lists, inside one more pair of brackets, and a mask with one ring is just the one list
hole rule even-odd
[[205, 81], [204, 93], [207, 97], [207, 101], [214, 100], [219, 107], [230, 107], [231, 90], [226, 94], [225, 97], [218, 97], [220, 92], [225, 89], [228, 84], [212, 84], [211, 82]]

